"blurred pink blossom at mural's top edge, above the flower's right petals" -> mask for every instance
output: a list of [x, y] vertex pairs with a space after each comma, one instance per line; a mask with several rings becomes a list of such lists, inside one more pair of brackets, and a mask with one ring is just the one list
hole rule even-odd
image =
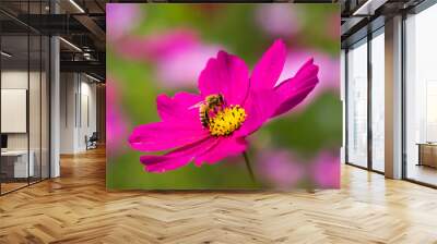
[[302, 25], [295, 8], [288, 3], [260, 4], [256, 12], [257, 23], [274, 37], [290, 37], [299, 32]]

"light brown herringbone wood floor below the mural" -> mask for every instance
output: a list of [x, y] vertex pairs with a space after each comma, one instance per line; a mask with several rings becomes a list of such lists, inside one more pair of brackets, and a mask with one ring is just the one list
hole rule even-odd
[[0, 197], [0, 243], [437, 243], [437, 191], [344, 166], [342, 190], [117, 192], [105, 152]]

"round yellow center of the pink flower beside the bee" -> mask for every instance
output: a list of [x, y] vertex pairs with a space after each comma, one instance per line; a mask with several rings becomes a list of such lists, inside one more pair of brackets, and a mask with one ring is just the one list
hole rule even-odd
[[222, 109], [213, 118], [210, 118], [210, 133], [215, 136], [229, 135], [241, 126], [246, 117], [246, 111], [238, 105]]

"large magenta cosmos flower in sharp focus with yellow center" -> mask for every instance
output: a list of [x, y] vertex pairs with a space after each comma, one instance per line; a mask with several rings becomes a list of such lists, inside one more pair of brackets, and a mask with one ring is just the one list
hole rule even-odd
[[[309, 59], [294, 77], [275, 86], [285, 57], [284, 42], [274, 41], [249, 77], [241, 59], [220, 51], [199, 76], [200, 94], [180, 91], [173, 98], [160, 95], [156, 103], [161, 121], [137, 126], [129, 137], [137, 150], [169, 150], [142, 156], [145, 170], [166, 172], [190, 161], [198, 167], [212, 164], [246, 151], [248, 135], [294, 108], [318, 83], [318, 66]], [[222, 97], [222, 102], [206, 110], [209, 119], [203, 123], [197, 105], [211, 97]]]

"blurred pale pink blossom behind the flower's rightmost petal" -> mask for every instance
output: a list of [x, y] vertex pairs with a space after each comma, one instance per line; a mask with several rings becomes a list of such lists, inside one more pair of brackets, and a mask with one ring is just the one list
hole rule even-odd
[[320, 64], [320, 82], [308, 98], [296, 107], [297, 110], [302, 110], [327, 90], [340, 94], [340, 60], [316, 50], [299, 49], [288, 52], [279, 81], [294, 74], [297, 71], [296, 63], [305, 62], [308, 56], [314, 57], [315, 62]]

